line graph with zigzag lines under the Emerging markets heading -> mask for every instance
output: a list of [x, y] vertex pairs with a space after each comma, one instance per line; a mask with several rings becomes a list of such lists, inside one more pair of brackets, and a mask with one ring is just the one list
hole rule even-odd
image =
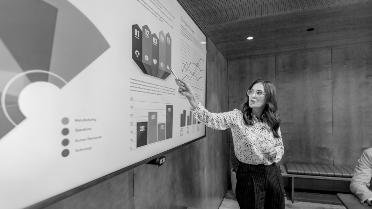
[[202, 51], [198, 51], [181, 39], [180, 69], [182, 78], [187, 81], [190, 86], [199, 90], [204, 90], [205, 56], [202, 56]]

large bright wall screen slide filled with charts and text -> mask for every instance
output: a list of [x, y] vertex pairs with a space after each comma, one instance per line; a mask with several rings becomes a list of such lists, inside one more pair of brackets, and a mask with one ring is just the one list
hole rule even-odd
[[[177, 0], [0, 1], [0, 208], [205, 135], [206, 36]], [[168, 68], [170, 67], [170, 68]]]

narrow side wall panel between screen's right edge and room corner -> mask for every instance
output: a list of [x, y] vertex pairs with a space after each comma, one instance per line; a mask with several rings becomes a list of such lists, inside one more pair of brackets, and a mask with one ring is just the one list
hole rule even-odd
[[[227, 60], [208, 38], [206, 108], [209, 112], [228, 111]], [[206, 129], [205, 208], [218, 209], [228, 189], [228, 130]]]

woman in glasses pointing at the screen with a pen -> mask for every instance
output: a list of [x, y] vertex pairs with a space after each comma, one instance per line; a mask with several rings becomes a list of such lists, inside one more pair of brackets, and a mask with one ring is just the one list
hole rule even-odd
[[238, 163], [236, 199], [241, 209], [284, 209], [283, 181], [278, 163], [284, 154], [275, 86], [256, 80], [247, 89], [242, 110], [210, 113], [185, 81], [176, 79], [178, 92], [206, 126], [231, 128]]

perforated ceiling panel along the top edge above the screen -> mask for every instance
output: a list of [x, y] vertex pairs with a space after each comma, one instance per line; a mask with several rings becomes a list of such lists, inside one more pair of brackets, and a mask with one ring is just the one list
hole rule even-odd
[[201, 26], [349, 1], [357, 0], [182, 0]]

